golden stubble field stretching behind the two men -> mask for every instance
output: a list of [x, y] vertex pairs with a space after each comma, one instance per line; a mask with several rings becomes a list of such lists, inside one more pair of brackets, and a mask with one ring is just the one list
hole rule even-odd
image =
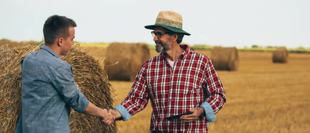
[[[87, 47], [94, 56], [105, 56], [105, 48]], [[98, 51], [99, 50], [99, 51]], [[210, 55], [210, 51], [197, 50]], [[151, 57], [158, 55], [151, 50]], [[217, 71], [224, 84], [227, 103], [210, 123], [209, 133], [309, 133], [310, 54], [289, 54], [287, 64], [274, 64], [272, 53], [239, 52], [238, 71]], [[104, 65], [104, 63], [102, 63]], [[110, 81], [124, 100], [132, 82]], [[151, 104], [117, 122], [121, 133], [148, 132]]]

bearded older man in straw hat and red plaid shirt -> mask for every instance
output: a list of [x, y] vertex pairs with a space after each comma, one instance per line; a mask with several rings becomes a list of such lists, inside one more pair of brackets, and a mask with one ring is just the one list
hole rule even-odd
[[[150, 132], [208, 132], [209, 123], [226, 102], [224, 87], [210, 59], [180, 45], [184, 35], [182, 16], [159, 12], [152, 29], [158, 56], [144, 62], [131, 91], [114, 109], [117, 120], [127, 121], [143, 110], [150, 99], [153, 108]], [[193, 112], [181, 118], [166, 117]], [[106, 124], [108, 125], [108, 124]]]

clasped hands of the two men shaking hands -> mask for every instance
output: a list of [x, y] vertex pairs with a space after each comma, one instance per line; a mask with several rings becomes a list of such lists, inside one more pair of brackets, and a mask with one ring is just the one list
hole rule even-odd
[[110, 126], [115, 122], [116, 119], [121, 118], [121, 114], [117, 109], [103, 109], [100, 114], [99, 120], [104, 126]]

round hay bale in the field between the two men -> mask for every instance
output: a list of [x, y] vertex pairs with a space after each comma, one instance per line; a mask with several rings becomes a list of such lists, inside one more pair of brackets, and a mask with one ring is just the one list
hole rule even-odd
[[104, 59], [109, 80], [133, 81], [141, 65], [148, 59], [150, 50], [145, 43], [110, 44]]

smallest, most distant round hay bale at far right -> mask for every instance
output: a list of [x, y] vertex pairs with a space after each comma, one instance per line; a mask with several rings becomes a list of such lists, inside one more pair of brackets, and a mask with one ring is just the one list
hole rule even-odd
[[288, 50], [287, 49], [277, 49], [272, 51], [272, 62], [273, 63], [287, 63], [288, 60]]

